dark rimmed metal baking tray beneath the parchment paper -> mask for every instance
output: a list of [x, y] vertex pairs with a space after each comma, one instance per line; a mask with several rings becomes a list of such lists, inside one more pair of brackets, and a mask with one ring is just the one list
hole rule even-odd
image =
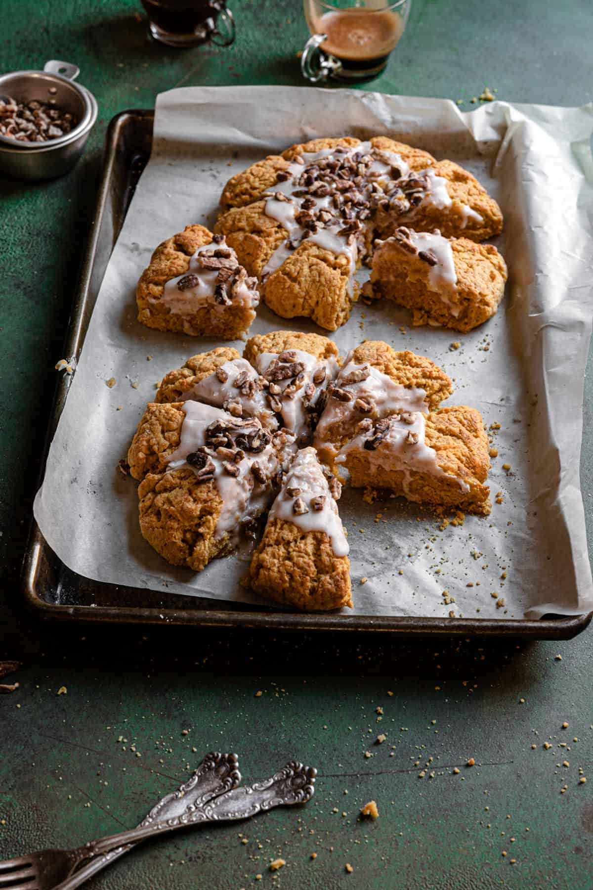
[[[106, 139], [103, 175], [84, 256], [80, 285], [72, 307], [64, 354], [78, 357], [109, 256], [152, 147], [154, 112], [132, 109], [111, 120]], [[64, 407], [71, 376], [57, 387], [45, 457]], [[43, 471], [42, 480], [43, 481]], [[28, 605], [44, 619], [108, 621], [111, 623], [172, 624], [202, 627], [261, 627], [272, 630], [374, 631], [385, 634], [473, 635], [570, 639], [581, 633], [593, 612], [570, 617], [527, 619], [440, 619], [394, 615], [303, 614], [248, 603], [202, 597], [167, 595], [137, 587], [92, 581], [68, 569], [53, 553], [33, 520], [25, 553], [22, 584]]]

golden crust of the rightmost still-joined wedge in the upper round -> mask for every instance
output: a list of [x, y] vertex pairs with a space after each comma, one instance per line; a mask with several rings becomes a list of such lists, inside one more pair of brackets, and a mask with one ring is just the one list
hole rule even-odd
[[[376, 229], [383, 237], [390, 235], [400, 225], [415, 231], [439, 229], [444, 238], [469, 238], [472, 241], [484, 241], [500, 234], [501, 208], [484, 186], [477, 182], [475, 176], [453, 161], [437, 161], [431, 168], [437, 176], [442, 176], [447, 181], [446, 189], [453, 203], [441, 209], [423, 202], [412, 213], [399, 217], [390, 216], [389, 211], [387, 214], [380, 211], [377, 214]], [[480, 214], [482, 222], [471, 218], [465, 220], [462, 204]]]

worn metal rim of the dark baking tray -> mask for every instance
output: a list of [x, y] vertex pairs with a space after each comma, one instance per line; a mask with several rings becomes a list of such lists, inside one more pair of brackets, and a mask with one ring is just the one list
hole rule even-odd
[[[65, 340], [65, 354], [78, 357], [84, 341], [84, 313], [94, 303], [96, 295], [91, 294], [91, 274], [96, 260], [100, 241], [100, 229], [108, 205], [109, 186], [114, 175], [120, 131], [124, 122], [132, 118], [138, 122], [154, 121], [151, 109], [127, 109], [112, 117], [108, 125], [103, 156], [103, 170], [97, 196], [96, 211], [92, 221], [92, 231], [84, 254], [80, 283], [72, 304]], [[129, 206], [129, 205], [128, 205]], [[128, 207], [124, 207], [124, 216]], [[118, 233], [118, 232], [117, 232]], [[56, 386], [52, 406], [52, 417], [48, 425], [44, 443], [44, 457], [39, 478], [42, 484], [45, 462], [53, 432], [60, 419], [61, 411], [68, 396], [71, 377], [63, 375]], [[390, 632], [399, 635], [484, 635], [484, 636], [527, 636], [534, 639], [570, 639], [581, 633], [593, 618], [593, 612], [565, 616], [557, 619], [441, 619], [423, 616], [365, 616], [343, 615], [328, 612], [304, 613], [290, 611], [227, 611], [222, 608], [208, 610], [153, 608], [148, 606], [105, 606], [105, 605], [66, 605], [48, 603], [37, 589], [38, 569], [44, 548], [51, 551], [45, 538], [32, 519], [25, 551], [21, 583], [28, 606], [44, 619], [61, 619], [84, 622], [121, 622], [125, 624], [169, 624], [201, 627], [244, 627], [270, 628], [273, 630], [326, 630]], [[58, 559], [57, 556], [54, 557]], [[60, 562], [60, 561], [59, 561]], [[110, 587], [116, 588], [116, 585]], [[139, 595], [142, 594], [140, 588]], [[188, 600], [190, 601], [190, 597]]]

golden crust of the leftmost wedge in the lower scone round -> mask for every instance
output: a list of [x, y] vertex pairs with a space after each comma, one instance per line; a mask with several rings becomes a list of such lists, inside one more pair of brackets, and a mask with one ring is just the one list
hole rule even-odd
[[166, 458], [178, 448], [185, 414], [182, 402], [168, 405], [147, 405], [132, 445], [128, 464], [134, 479], [144, 479], [147, 473], [162, 473]]

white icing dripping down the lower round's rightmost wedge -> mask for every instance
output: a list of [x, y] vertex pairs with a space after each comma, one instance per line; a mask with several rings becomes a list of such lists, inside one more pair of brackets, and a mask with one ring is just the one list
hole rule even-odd
[[[426, 417], [417, 411], [407, 419], [411, 422], [406, 423], [397, 415], [390, 417], [387, 432], [375, 449], [365, 449], [365, 441], [373, 439], [374, 431], [359, 433], [341, 449], [336, 463], [348, 467], [349, 453], [362, 451], [369, 471], [379, 477], [378, 487], [381, 487], [381, 473], [394, 471], [404, 473], [402, 488], [409, 500], [421, 500], [410, 491], [413, 472], [445, 477], [457, 482], [461, 490], [469, 491], [467, 482], [458, 476], [445, 473], [445, 470], [438, 465], [437, 451], [426, 444]], [[410, 441], [413, 438], [416, 439], [415, 443]]]

